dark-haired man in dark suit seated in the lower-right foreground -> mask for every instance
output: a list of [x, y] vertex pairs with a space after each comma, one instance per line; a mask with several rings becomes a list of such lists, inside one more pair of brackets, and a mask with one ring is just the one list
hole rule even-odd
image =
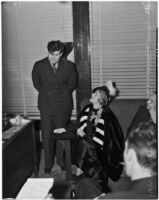
[[125, 172], [131, 182], [118, 192], [102, 193], [91, 179], [76, 186], [80, 199], [156, 199], [157, 198], [157, 132], [153, 122], [140, 123], [125, 141]]

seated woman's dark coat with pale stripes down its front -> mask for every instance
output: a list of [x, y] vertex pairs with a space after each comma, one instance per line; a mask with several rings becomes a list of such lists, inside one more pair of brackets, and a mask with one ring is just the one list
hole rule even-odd
[[[91, 110], [91, 108], [92, 104], [89, 104], [85, 106], [81, 111], [79, 117], [80, 121], [79, 127], [82, 126], [85, 127], [85, 124], [88, 123], [89, 112], [87, 111], [89, 109]], [[85, 119], [86, 122], [82, 119]], [[97, 132], [95, 133], [95, 136], [98, 137], [101, 141], [103, 141], [103, 143], [101, 142], [102, 145], [97, 144], [95, 149], [89, 148], [89, 150], [85, 151], [84, 145], [86, 143], [80, 142], [80, 145], [78, 145], [80, 148], [80, 150], [78, 149], [78, 155], [80, 154], [82, 155], [82, 157], [79, 156], [79, 159], [82, 159], [82, 162], [78, 160], [78, 163], [79, 167], [81, 167], [82, 170], [84, 170], [84, 172], [86, 170], [92, 172], [93, 171], [92, 168], [97, 170], [98, 162], [95, 163], [95, 160], [98, 160], [100, 166], [102, 167], [102, 169], [104, 169], [107, 176], [110, 177], [112, 180], [117, 181], [120, 178], [123, 169], [121, 162], [123, 162], [124, 136], [119, 121], [110, 108], [104, 109], [101, 116], [101, 121], [103, 120], [104, 124], [98, 123], [96, 130], [100, 129], [100, 132], [104, 134], [101, 136], [99, 133]], [[87, 129], [84, 131], [86, 132], [86, 136], [84, 136], [81, 140], [88, 141]], [[85, 153], [83, 151], [85, 151]], [[95, 158], [96, 154], [94, 151], [97, 151], [97, 159]], [[84, 164], [85, 162], [87, 162], [86, 165]]]

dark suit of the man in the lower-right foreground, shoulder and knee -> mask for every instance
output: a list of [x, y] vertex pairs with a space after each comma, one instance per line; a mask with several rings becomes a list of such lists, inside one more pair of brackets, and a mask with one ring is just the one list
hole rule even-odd
[[157, 199], [157, 176], [126, 181], [119, 188], [122, 189], [103, 194], [101, 186], [93, 179], [83, 178], [75, 189], [77, 199]]

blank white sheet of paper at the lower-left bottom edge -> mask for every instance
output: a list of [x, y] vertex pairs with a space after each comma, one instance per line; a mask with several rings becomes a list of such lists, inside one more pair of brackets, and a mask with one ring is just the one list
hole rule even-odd
[[53, 178], [29, 178], [16, 199], [44, 199], [53, 186], [53, 183]]

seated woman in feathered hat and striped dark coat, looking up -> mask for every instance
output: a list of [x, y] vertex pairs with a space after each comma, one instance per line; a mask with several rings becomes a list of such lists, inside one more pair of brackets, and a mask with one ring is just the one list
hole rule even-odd
[[108, 177], [117, 181], [122, 173], [124, 136], [109, 108], [117, 95], [112, 81], [92, 91], [90, 104], [79, 115], [76, 145], [77, 174], [93, 178], [107, 192]]

